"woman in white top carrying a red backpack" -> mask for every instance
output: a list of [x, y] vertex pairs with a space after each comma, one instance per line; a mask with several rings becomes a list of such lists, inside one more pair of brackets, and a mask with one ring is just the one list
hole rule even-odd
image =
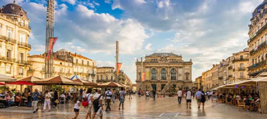
[[[91, 109], [92, 109], [92, 102], [93, 102], [93, 94], [92, 94], [92, 88], [88, 88], [86, 95], [84, 97], [83, 100], [83, 106], [86, 106], [87, 104], [87, 110], [86, 110], [86, 115], [85, 115], [85, 119], [89, 118], [91, 119]], [[86, 103], [86, 104], [84, 104]]]

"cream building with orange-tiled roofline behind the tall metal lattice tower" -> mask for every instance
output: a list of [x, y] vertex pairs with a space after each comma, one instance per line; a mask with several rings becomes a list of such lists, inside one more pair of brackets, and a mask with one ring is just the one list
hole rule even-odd
[[[71, 78], [77, 74], [83, 80], [96, 82], [96, 61], [66, 49], [56, 51], [53, 55], [53, 76]], [[28, 56], [28, 63], [31, 65], [28, 76], [44, 78], [44, 60], [45, 53]]]

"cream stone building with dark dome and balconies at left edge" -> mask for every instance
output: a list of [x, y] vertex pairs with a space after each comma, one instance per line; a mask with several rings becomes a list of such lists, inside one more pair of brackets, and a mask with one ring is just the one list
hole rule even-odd
[[27, 12], [16, 2], [0, 7], [0, 74], [26, 77], [31, 32]]

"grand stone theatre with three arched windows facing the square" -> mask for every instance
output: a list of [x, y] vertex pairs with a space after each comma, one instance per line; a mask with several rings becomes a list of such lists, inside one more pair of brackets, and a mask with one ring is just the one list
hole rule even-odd
[[[136, 61], [136, 84], [139, 90], [157, 90], [160, 92], [170, 82], [176, 89], [191, 89], [192, 61], [182, 60], [181, 55], [174, 53], [153, 53], [145, 56], [143, 66]], [[141, 87], [141, 69], [145, 73], [145, 81]]]

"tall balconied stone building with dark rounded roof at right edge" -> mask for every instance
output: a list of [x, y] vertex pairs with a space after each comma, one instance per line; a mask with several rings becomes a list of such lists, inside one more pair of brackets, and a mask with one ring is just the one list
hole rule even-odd
[[267, 0], [264, 0], [252, 13], [249, 24], [249, 75], [254, 77], [267, 71]]

